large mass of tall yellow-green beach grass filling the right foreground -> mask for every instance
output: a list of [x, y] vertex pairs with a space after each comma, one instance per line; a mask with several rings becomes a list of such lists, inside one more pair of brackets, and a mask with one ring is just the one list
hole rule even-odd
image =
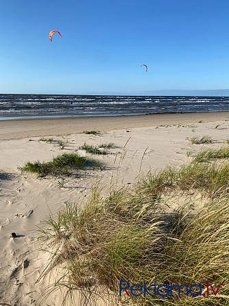
[[[108, 194], [96, 184], [83, 209], [67, 205], [42, 231], [52, 254], [46, 272], [64, 269], [66, 275], [55, 286], [64, 286], [69, 294], [78, 288], [96, 299], [94, 288], [107, 288], [118, 299], [114, 305], [228, 305], [228, 177], [229, 162], [223, 154], [217, 161], [194, 157], [179, 168], [149, 172], [133, 187], [115, 186]], [[191, 196], [184, 205], [166, 209], [184, 192], [204, 198], [195, 214], [187, 209]], [[211, 292], [207, 298], [193, 298], [183, 290], [179, 297], [174, 288], [172, 296], [163, 298], [135, 298], [124, 291], [119, 298], [121, 280], [131, 285], [197, 283], [202, 293], [207, 281], [215, 290], [219, 283], [221, 287], [217, 297]], [[161, 289], [161, 294], [166, 292]]]

